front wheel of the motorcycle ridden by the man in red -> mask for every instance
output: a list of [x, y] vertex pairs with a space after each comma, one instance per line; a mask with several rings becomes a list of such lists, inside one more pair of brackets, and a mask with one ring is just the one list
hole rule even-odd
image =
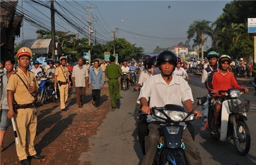
[[251, 137], [247, 124], [244, 121], [237, 120], [237, 137], [234, 136], [234, 146], [237, 153], [246, 155], [250, 151]]

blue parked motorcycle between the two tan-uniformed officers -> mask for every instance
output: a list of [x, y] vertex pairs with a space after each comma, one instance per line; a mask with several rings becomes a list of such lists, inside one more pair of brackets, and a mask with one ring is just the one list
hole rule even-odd
[[[49, 73], [49, 75], [52, 75], [52, 73]], [[40, 78], [38, 92], [36, 92], [36, 105], [42, 105], [50, 100], [55, 101], [55, 103], [57, 102], [57, 92], [59, 92], [59, 88], [53, 88], [53, 82], [54, 80], [48, 77]]]

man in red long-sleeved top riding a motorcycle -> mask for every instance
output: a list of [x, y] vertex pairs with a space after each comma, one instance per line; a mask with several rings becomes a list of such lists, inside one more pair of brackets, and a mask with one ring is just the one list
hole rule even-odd
[[248, 88], [241, 87], [232, 72], [229, 72], [229, 65], [231, 62], [231, 58], [224, 54], [218, 60], [219, 68], [217, 70], [212, 71], [208, 77], [207, 87], [210, 92], [212, 92], [212, 104], [214, 106], [213, 113], [213, 129], [212, 134], [217, 134], [217, 120], [218, 115], [221, 111], [221, 104], [224, 101], [225, 97], [222, 97], [219, 94], [219, 91], [228, 91], [232, 88], [232, 86], [236, 89], [244, 89], [245, 92], [248, 92]]

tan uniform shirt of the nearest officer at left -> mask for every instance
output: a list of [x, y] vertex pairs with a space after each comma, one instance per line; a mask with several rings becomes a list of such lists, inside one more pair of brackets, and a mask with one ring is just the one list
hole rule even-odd
[[[27, 71], [27, 75], [24, 74], [24, 72], [21, 69], [17, 69], [16, 74], [19, 75], [20, 78], [26, 83], [26, 86], [38, 86], [38, 82], [36, 82], [36, 78], [34, 73], [31, 71]], [[30, 104], [34, 102], [35, 98], [32, 96], [22, 80], [18, 77], [18, 75], [12, 74], [9, 78], [8, 84], [7, 84], [7, 91], [13, 91], [14, 92], [14, 100], [18, 104]]]

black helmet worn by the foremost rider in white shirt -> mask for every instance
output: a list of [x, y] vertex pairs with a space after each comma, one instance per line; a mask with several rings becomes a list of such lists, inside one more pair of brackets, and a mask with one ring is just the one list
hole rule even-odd
[[164, 50], [163, 52], [158, 54], [158, 57], [156, 57], [156, 64], [160, 66], [164, 62], [170, 62], [171, 64], [174, 64], [174, 66], [176, 67], [177, 56], [169, 50]]

